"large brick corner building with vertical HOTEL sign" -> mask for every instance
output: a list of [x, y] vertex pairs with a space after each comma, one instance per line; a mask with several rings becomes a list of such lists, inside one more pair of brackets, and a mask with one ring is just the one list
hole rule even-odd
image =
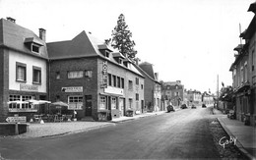
[[144, 107], [144, 76], [104, 41], [82, 31], [72, 40], [47, 43], [50, 100], [69, 104], [77, 118], [108, 112], [117, 118]]

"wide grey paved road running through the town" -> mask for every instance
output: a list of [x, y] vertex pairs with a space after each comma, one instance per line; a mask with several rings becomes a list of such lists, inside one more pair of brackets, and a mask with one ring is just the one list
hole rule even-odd
[[7, 159], [219, 158], [209, 131], [210, 109], [185, 109], [87, 133], [0, 139]]

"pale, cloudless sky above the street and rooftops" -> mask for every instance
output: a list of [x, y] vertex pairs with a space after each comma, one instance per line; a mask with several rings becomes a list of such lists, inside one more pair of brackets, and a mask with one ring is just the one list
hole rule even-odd
[[[233, 48], [254, 14], [255, 0], [0, 0], [0, 18], [38, 34], [46, 42], [70, 40], [83, 30], [111, 37], [120, 14], [133, 33], [137, 57], [154, 65], [163, 81], [187, 89], [217, 91], [231, 85]], [[244, 41], [242, 40], [242, 43]]]

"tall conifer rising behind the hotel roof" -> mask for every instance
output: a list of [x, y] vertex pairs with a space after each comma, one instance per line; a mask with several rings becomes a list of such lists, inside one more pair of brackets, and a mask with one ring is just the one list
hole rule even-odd
[[117, 48], [120, 53], [134, 60], [137, 51], [134, 49], [135, 42], [131, 40], [132, 32], [125, 23], [124, 15], [118, 17], [117, 26], [112, 30], [111, 46]]

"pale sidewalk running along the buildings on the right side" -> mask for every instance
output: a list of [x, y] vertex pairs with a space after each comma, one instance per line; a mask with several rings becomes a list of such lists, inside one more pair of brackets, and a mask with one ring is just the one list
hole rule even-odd
[[[214, 110], [219, 114], [220, 111]], [[248, 158], [256, 159], [256, 128], [251, 126], [244, 126], [244, 123], [238, 120], [230, 120], [227, 116], [218, 118], [224, 131], [232, 137], [236, 137], [236, 146]]]

